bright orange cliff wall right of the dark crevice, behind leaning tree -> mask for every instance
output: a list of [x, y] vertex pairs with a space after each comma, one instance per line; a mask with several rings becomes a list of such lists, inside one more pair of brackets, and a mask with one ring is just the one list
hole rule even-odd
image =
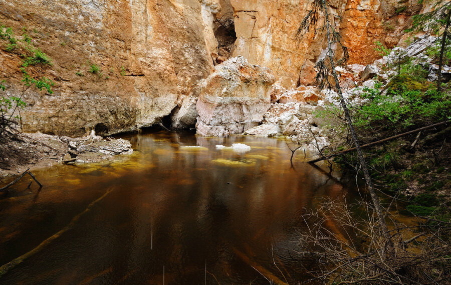
[[[312, 0], [230, 0], [235, 11], [236, 47], [252, 64], [271, 68], [286, 88], [312, 83], [312, 69], [326, 47], [317, 30], [301, 39], [298, 27]], [[375, 41], [387, 47], [402, 44], [410, 15], [421, 5], [415, 0], [330, 0], [335, 25], [349, 48], [349, 63], [367, 64], [380, 57]], [[321, 20], [320, 20], [321, 21]], [[300, 81], [300, 82], [299, 82]]]

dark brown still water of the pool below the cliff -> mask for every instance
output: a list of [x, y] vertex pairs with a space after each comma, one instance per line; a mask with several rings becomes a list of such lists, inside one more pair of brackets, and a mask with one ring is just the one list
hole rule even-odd
[[[300, 214], [321, 197], [348, 192], [340, 177], [303, 163], [303, 151], [291, 167], [285, 141], [274, 138], [166, 131], [126, 138], [132, 155], [34, 171], [40, 191], [23, 179], [0, 194], [1, 264], [64, 229], [1, 284], [292, 284], [310, 277], [311, 265], [296, 254]], [[252, 150], [215, 148], [234, 142]]]

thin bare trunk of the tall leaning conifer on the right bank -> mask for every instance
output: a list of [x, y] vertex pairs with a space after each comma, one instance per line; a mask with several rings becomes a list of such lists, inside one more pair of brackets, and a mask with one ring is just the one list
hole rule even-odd
[[[330, 19], [329, 19], [329, 11], [327, 8], [327, 3], [325, 0], [322, 1], [322, 6], [324, 10], [324, 17], [326, 21], [326, 33], [327, 33], [327, 48], [328, 48], [328, 54], [330, 59], [330, 65], [331, 65], [331, 71], [335, 80], [335, 88], [337, 89], [338, 95], [340, 97], [340, 103], [344, 110], [346, 121], [349, 125], [349, 130], [352, 135], [352, 139], [355, 144], [355, 148], [357, 150], [360, 165], [362, 167], [363, 175], [365, 177], [366, 185], [368, 186], [368, 191], [370, 192], [371, 200], [373, 202], [374, 210], [377, 214], [377, 218], [379, 219], [380, 227], [382, 230], [382, 233], [387, 241], [387, 246], [391, 249], [393, 247], [393, 242], [391, 240], [390, 233], [388, 231], [387, 223], [385, 222], [384, 215], [382, 213], [382, 207], [380, 205], [379, 197], [376, 195], [376, 192], [374, 190], [373, 182], [371, 181], [371, 177], [368, 172], [368, 168], [366, 167], [365, 157], [363, 156], [362, 149], [360, 148], [360, 143], [357, 138], [357, 134], [355, 132], [354, 126], [352, 124], [351, 115], [349, 114], [348, 107], [346, 105], [346, 102], [343, 98], [343, 93], [340, 87], [340, 82], [338, 80], [337, 71], [335, 70], [335, 63], [334, 63], [334, 57], [333, 57], [333, 49], [331, 44], [331, 26], [330, 26]], [[327, 78], [326, 78], [327, 80]]]

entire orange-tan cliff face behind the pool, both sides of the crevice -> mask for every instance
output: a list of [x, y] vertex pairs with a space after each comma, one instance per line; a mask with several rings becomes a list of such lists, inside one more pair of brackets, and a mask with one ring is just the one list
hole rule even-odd
[[[295, 37], [311, 1], [0, 0], [0, 23], [19, 38], [25, 27], [32, 44], [52, 58], [52, 66], [27, 67], [32, 76], [47, 76], [56, 85], [53, 94], [26, 92], [23, 129], [80, 135], [152, 125], [185, 101], [193, 106], [193, 87], [228, 56], [271, 68], [283, 87], [311, 84], [324, 42], [313, 34]], [[403, 29], [421, 8], [416, 0], [331, 3], [350, 63], [362, 64], [378, 57], [376, 40], [388, 47], [403, 44]], [[217, 32], [224, 23], [232, 29], [222, 31], [227, 39]], [[24, 89], [22, 60], [21, 51], [0, 46], [7, 95]], [[100, 70], [89, 72], [92, 65]]]

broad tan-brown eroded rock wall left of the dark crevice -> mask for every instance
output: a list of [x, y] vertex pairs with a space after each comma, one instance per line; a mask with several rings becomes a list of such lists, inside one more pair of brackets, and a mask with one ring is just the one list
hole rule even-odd
[[[53, 94], [26, 92], [23, 129], [107, 134], [155, 123], [211, 72], [219, 10], [218, 0], [0, 0], [0, 22], [19, 38], [26, 27], [52, 58], [27, 67], [56, 85]], [[0, 50], [0, 81], [17, 95], [20, 52]], [[92, 64], [101, 70], [89, 72]]]

